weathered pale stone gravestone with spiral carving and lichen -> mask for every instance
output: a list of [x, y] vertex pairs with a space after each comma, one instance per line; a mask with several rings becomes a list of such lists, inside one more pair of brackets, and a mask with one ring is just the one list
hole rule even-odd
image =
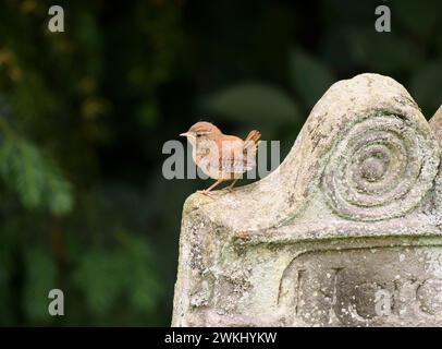
[[442, 109], [335, 83], [281, 166], [184, 204], [172, 326], [441, 326]]

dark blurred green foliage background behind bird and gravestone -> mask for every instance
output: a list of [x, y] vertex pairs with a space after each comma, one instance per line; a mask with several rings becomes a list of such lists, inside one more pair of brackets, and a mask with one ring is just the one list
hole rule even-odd
[[[181, 209], [162, 144], [197, 120], [288, 152], [336, 80], [442, 101], [442, 2], [50, 1], [0, 11], [0, 325], [169, 325]], [[392, 33], [375, 31], [386, 4]], [[47, 313], [64, 291], [65, 316]]]

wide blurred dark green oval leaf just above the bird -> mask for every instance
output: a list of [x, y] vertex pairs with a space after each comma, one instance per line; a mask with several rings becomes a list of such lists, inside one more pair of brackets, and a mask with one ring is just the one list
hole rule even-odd
[[299, 110], [281, 88], [261, 83], [242, 83], [210, 96], [205, 106], [236, 122], [255, 124], [296, 122]]

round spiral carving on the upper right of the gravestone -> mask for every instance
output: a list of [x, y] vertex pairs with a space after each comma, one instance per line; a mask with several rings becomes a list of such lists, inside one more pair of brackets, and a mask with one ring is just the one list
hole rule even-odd
[[322, 177], [333, 210], [357, 220], [402, 216], [432, 185], [439, 155], [418, 125], [380, 115], [356, 122], [335, 146]]

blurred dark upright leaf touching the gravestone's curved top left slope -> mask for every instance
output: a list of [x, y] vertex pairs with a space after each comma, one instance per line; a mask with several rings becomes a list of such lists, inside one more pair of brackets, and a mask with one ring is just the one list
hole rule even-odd
[[302, 50], [291, 53], [290, 69], [292, 85], [307, 109], [318, 101], [335, 80], [328, 67]]

